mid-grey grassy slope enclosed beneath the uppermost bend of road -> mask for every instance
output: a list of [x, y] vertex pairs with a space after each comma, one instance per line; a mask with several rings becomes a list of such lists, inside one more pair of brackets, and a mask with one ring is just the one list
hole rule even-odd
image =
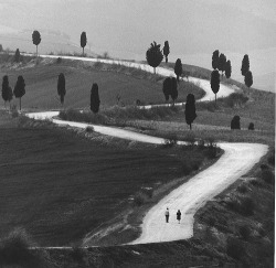
[[[13, 87], [19, 75], [23, 75], [26, 94], [22, 97], [23, 108], [53, 109], [60, 108], [56, 93], [57, 76], [64, 73], [66, 78], [66, 108], [89, 107], [89, 94], [93, 83], [99, 86], [100, 106], [117, 104], [116, 96], [120, 95], [124, 105], [132, 105], [139, 99], [144, 104], [164, 103], [162, 94], [162, 77], [156, 77], [139, 69], [124, 66], [94, 64], [55, 60], [43, 60], [35, 65], [32, 61], [21, 67], [10, 63], [2, 65], [0, 77], [9, 75]], [[198, 97], [204, 93], [197, 86], [182, 83], [179, 88], [179, 100], [184, 100], [187, 94], [193, 93]], [[18, 104], [18, 100], [13, 100]], [[1, 104], [3, 105], [3, 104]]]

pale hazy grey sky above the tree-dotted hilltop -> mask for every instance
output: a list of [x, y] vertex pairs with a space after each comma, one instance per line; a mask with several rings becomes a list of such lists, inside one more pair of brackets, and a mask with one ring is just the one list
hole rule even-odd
[[[211, 68], [212, 52], [220, 50], [233, 62], [236, 79], [242, 79], [244, 54], [250, 55], [256, 84], [276, 74], [276, 0], [0, 0], [0, 35], [9, 29], [39, 30], [44, 52], [54, 49], [45, 30], [66, 33], [75, 47], [86, 31], [97, 54], [146, 60], [152, 41], [163, 45], [168, 40], [173, 62], [181, 57], [183, 63]], [[7, 44], [32, 50], [30, 33], [14, 43], [10, 37]]]

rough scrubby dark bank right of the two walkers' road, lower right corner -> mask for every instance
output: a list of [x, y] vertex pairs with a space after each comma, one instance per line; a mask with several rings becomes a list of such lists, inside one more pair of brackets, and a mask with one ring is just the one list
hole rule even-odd
[[[275, 168], [272, 148], [254, 169], [195, 214], [194, 238], [246, 267], [273, 267]], [[265, 180], [266, 174], [269, 180]], [[210, 215], [215, 219], [210, 225]], [[208, 236], [206, 236], [208, 233]], [[226, 257], [226, 256], [225, 256]]]

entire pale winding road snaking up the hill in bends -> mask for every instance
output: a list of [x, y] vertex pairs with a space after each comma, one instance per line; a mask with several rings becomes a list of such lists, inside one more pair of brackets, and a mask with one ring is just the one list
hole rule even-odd
[[[42, 57], [59, 57], [59, 56], [42, 56]], [[123, 64], [130, 67], [138, 67], [147, 72], [153, 72], [151, 67], [145, 64], [132, 62], [121, 62], [112, 60], [97, 60], [86, 57], [70, 57], [61, 56], [67, 60], [78, 61], [99, 61], [109, 64]], [[173, 71], [158, 67], [157, 73], [163, 76], [174, 75]], [[201, 100], [211, 100], [214, 94], [210, 88], [208, 81], [191, 77], [189, 82], [198, 84], [206, 92], [206, 95]], [[211, 90], [211, 92], [210, 92]], [[233, 88], [222, 86], [219, 92], [219, 97], [227, 96], [233, 93]], [[150, 108], [150, 106], [146, 107]], [[129, 130], [124, 130], [116, 127], [96, 126], [84, 122], [64, 121], [54, 119], [59, 111], [45, 112], [30, 112], [28, 117], [34, 119], [50, 118], [54, 124], [68, 125], [77, 128], [86, 128], [93, 126], [94, 131], [108, 135], [117, 138], [136, 140], [140, 142], [148, 142], [160, 144], [164, 140], [162, 138], [150, 137], [142, 133], [137, 133]], [[193, 235], [193, 217], [195, 212], [202, 207], [209, 200], [225, 190], [229, 185], [235, 182], [238, 178], [246, 174], [268, 151], [268, 146], [258, 143], [219, 143], [224, 150], [224, 154], [210, 168], [200, 172], [194, 178], [190, 179], [187, 183], [172, 191], [169, 195], [162, 199], [155, 205], [145, 216], [141, 225], [141, 236], [130, 244], [146, 244], [146, 243], [160, 243], [187, 239]], [[170, 222], [164, 221], [164, 211], [170, 210]], [[177, 222], [176, 213], [180, 210], [182, 219], [180, 224]]]

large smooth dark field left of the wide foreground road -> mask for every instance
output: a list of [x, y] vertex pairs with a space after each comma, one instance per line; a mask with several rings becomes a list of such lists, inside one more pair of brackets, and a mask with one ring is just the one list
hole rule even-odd
[[20, 118], [0, 126], [0, 236], [22, 226], [41, 246], [78, 242], [132, 207], [129, 197], [142, 187], [157, 191], [205, 158], [204, 150], [114, 147], [86, 130], [92, 139], [79, 139], [51, 122], [19, 128]]

